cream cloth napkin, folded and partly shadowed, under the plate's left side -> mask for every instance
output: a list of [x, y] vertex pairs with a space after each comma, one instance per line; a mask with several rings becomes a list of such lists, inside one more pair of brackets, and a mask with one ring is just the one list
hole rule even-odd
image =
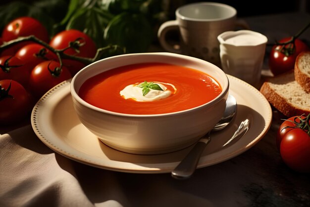
[[114, 174], [54, 153], [30, 126], [0, 136], [0, 207], [122, 207]]

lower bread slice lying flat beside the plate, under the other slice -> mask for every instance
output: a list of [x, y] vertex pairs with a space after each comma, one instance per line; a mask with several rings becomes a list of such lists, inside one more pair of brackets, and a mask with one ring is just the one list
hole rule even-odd
[[287, 117], [310, 113], [310, 93], [297, 83], [294, 69], [265, 81], [260, 92]]

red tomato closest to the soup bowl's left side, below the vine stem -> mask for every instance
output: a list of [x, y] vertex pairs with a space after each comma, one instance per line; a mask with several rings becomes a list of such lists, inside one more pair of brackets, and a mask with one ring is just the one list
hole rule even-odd
[[32, 70], [30, 74], [29, 86], [33, 96], [40, 98], [53, 86], [72, 77], [69, 70], [65, 67], [62, 67], [58, 74], [53, 74], [56, 73], [55, 69], [59, 67], [60, 64], [58, 62], [45, 61], [38, 64]]

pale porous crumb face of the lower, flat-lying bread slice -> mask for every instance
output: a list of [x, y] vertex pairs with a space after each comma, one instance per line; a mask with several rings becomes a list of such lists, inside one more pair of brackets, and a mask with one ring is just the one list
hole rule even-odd
[[310, 94], [295, 81], [294, 73], [273, 78], [269, 86], [296, 108], [310, 110]]

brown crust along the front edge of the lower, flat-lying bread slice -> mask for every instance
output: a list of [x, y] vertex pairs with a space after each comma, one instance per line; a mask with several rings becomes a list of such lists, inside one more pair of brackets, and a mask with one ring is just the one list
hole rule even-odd
[[310, 111], [296, 108], [292, 104], [288, 103], [285, 98], [283, 98], [270, 87], [268, 82], [264, 82], [259, 91], [266, 97], [272, 106], [274, 106], [278, 111], [287, 117], [310, 113]]

